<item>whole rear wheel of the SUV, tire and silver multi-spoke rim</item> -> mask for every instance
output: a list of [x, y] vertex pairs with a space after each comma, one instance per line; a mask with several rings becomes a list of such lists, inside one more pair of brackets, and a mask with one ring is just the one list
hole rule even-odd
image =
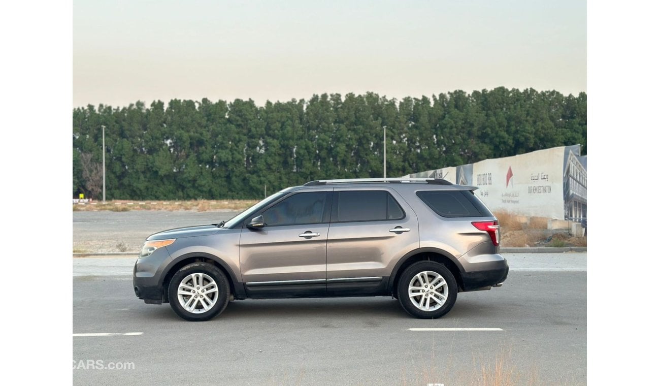
[[418, 261], [401, 274], [397, 294], [399, 303], [409, 314], [434, 319], [451, 310], [458, 286], [444, 265], [435, 261]]

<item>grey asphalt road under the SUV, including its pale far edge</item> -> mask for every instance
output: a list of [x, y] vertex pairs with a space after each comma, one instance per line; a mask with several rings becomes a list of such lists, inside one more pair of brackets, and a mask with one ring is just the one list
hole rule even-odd
[[[459, 294], [438, 320], [391, 298], [243, 300], [191, 323], [133, 294], [135, 259], [73, 259], [77, 385], [583, 385], [587, 377], [585, 253], [512, 254], [502, 288]], [[419, 327], [502, 331], [410, 331]], [[88, 360], [94, 366], [81, 366]], [[133, 363], [133, 370], [96, 370]], [[130, 365], [129, 365], [130, 366]], [[94, 368], [92, 368], [94, 367]]]

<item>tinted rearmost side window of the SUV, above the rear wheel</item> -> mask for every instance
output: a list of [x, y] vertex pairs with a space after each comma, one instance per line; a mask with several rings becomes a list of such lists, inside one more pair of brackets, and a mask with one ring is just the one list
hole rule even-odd
[[471, 191], [418, 191], [419, 197], [430, 209], [443, 217], [492, 216]]

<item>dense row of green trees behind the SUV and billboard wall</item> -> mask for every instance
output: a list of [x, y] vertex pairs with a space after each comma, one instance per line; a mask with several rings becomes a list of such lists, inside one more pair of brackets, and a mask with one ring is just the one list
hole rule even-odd
[[587, 150], [587, 95], [457, 90], [427, 98], [322, 94], [310, 100], [156, 101], [73, 110], [73, 193], [108, 199], [263, 197], [314, 179], [387, 175], [512, 156]]

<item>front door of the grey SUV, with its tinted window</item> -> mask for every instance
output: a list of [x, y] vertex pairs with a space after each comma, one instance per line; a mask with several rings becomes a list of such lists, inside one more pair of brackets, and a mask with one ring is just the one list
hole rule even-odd
[[295, 191], [260, 213], [263, 228], [243, 228], [240, 266], [249, 297], [325, 295], [331, 194]]

